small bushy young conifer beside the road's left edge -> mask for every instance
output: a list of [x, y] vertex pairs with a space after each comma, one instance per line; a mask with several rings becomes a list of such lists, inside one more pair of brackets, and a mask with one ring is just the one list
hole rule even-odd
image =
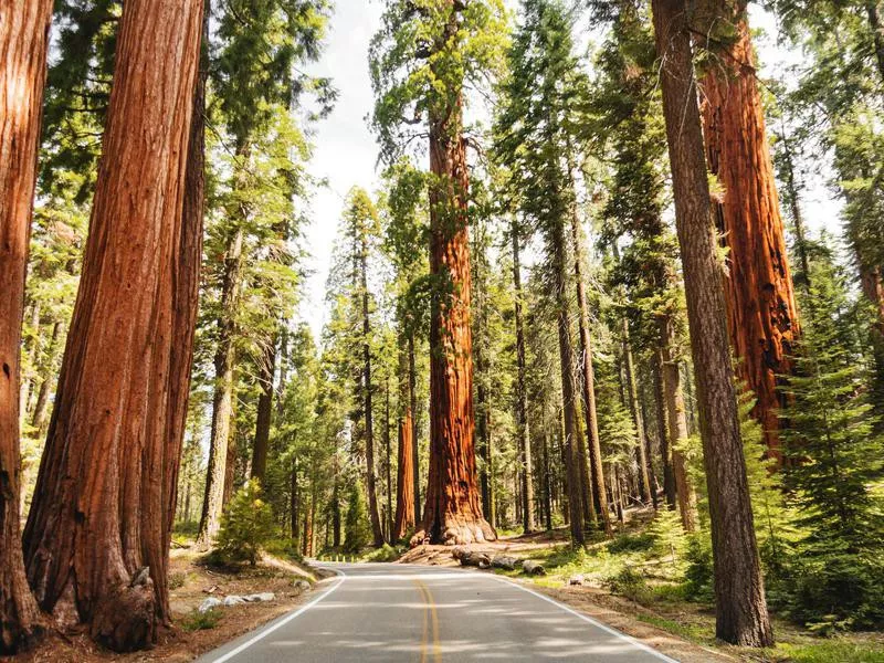
[[221, 529], [215, 540], [217, 557], [225, 564], [248, 561], [254, 566], [262, 547], [274, 533], [273, 513], [261, 498], [261, 484], [254, 478], [248, 481], [236, 491], [221, 516]]

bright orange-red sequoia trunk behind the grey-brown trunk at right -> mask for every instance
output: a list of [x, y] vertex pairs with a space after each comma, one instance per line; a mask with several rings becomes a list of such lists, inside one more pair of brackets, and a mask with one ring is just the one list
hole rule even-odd
[[777, 410], [783, 396], [778, 386], [792, 371], [791, 348], [799, 334], [792, 276], [745, 2], [707, 4], [711, 17], [736, 30], [735, 39], [708, 46], [715, 61], [702, 81], [706, 157], [724, 189], [715, 212], [729, 249], [728, 330], [738, 375], [757, 398], [753, 415], [781, 462]]

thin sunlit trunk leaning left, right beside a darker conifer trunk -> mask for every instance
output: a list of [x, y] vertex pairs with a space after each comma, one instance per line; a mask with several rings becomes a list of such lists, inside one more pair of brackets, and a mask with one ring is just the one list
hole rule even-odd
[[[593, 509], [585, 516], [596, 520], [594, 514], [601, 516], [601, 525], [608, 536], [613, 534], [611, 514], [608, 512], [608, 495], [604, 487], [604, 467], [601, 460], [601, 441], [599, 440], [599, 418], [596, 413], [596, 375], [592, 366], [592, 338], [589, 334], [589, 307], [587, 306], [587, 291], [583, 283], [583, 238], [580, 231], [580, 220], [577, 207], [571, 213], [571, 241], [573, 242], [573, 275], [577, 283], [577, 306], [580, 316], [580, 377], [582, 378], [581, 394], [583, 398], [583, 418], [587, 425], [587, 445], [589, 455], [590, 480], [592, 482]], [[583, 463], [586, 465], [586, 463]], [[589, 522], [587, 522], [589, 524]]]

